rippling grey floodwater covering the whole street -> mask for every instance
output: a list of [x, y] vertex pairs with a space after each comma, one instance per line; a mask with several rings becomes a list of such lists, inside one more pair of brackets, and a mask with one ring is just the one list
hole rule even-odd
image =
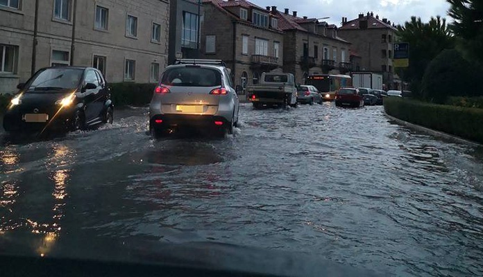
[[244, 104], [240, 118], [221, 140], [155, 141], [145, 108], [44, 141], [1, 131], [0, 252], [223, 242], [382, 276], [483, 276], [482, 148], [396, 125], [382, 107]]

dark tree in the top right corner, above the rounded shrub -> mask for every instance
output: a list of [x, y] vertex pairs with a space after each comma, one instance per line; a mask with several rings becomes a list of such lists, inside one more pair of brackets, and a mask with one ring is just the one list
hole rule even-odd
[[483, 65], [483, 1], [447, 0], [451, 30], [458, 37], [458, 50], [471, 62]]

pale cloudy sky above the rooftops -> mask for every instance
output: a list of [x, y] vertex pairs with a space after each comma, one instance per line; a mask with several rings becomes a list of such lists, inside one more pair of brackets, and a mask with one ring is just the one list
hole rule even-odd
[[360, 12], [374, 12], [380, 18], [387, 18], [396, 24], [404, 24], [411, 16], [421, 17], [429, 21], [431, 17], [446, 15], [450, 5], [446, 0], [248, 0], [261, 6], [277, 6], [278, 10], [285, 8], [296, 10], [298, 16], [312, 18], [330, 17], [324, 19], [330, 24], [340, 25], [342, 17], [348, 20], [357, 18]]

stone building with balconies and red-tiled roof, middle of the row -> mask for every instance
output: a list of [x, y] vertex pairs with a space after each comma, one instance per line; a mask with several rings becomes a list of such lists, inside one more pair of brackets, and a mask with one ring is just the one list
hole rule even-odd
[[283, 69], [295, 74], [297, 82], [304, 83], [310, 74], [346, 74], [353, 70], [350, 62], [351, 44], [338, 35], [335, 25], [314, 18], [298, 17], [290, 13], [274, 11], [280, 17], [284, 31]]

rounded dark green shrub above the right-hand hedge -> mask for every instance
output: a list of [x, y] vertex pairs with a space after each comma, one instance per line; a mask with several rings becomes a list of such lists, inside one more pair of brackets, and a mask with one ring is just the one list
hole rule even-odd
[[457, 50], [442, 51], [425, 70], [421, 89], [423, 98], [444, 103], [449, 96], [477, 96], [481, 85], [472, 64], [464, 60]]

